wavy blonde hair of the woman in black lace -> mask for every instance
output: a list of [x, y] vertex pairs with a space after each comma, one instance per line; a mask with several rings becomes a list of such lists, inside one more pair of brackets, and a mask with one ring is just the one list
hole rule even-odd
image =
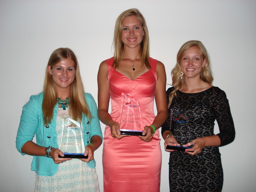
[[177, 62], [175, 67], [173, 68], [171, 74], [172, 74], [172, 84], [174, 86], [174, 90], [169, 94], [169, 104], [168, 108], [170, 107], [172, 103], [172, 99], [177, 96], [176, 92], [178, 89], [180, 89], [183, 84], [184, 84], [184, 78], [180, 79], [181, 75], [181, 67], [180, 67], [180, 61], [182, 57], [186, 54], [187, 50], [191, 47], [197, 46], [202, 54], [202, 57], [206, 59], [206, 64], [204, 67], [204, 77], [203, 81], [212, 84], [213, 81], [213, 76], [212, 76], [212, 71], [211, 71], [211, 62], [210, 62], [210, 57], [208, 55], [208, 52], [205, 48], [205, 46], [202, 44], [201, 41], [197, 40], [191, 40], [185, 42], [179, 49], [177, 53]]

